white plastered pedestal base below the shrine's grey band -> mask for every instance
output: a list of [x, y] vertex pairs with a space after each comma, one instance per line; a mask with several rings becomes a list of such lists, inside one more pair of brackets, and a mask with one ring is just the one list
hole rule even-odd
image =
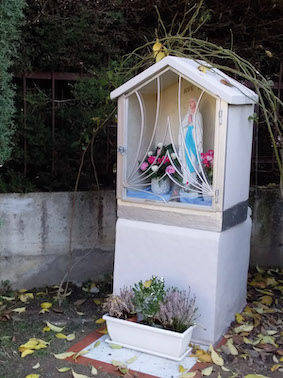
[[118, 219], [114, 293], [152, 275], [191, 287], [200, 317], [192, 341], [215, 343], [246, 303], [251, 220], [223, 232]]

